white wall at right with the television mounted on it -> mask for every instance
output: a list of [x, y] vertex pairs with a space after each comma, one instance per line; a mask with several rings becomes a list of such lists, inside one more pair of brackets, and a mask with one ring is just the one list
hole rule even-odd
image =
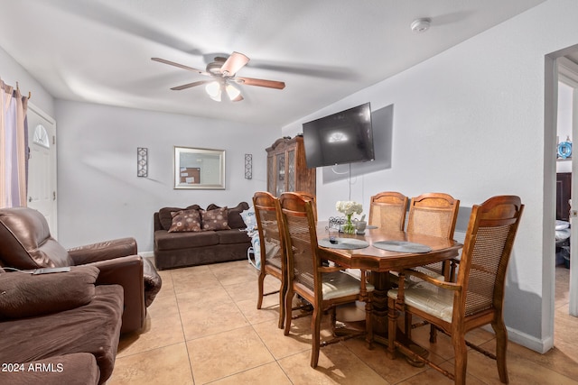
[[[505, 319], [509, 337], [536, 351], [552, 346], [554, 330], [555, 161], [545, 142], [555, 133], [545, 135], [545, 55], [578, 43], [576, 14], [578, 2], [548, 1], [283, 128], [293, 135], [304, 122], [354, 105], [394, 105], [391, 169], [352, 180], [351, 198], [365, 207], [383, 190], [446, 192], [463, 207], [522, 197]], [[335, 215], [348, 182], [324, 184], [317, 175], [319, 215]]]

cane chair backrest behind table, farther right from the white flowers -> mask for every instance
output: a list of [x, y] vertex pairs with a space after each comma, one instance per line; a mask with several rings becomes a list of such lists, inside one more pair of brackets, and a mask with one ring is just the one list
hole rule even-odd
[[443, 193], [413, 197], [407, 216], [407, 233], [453, 239], [460, 200]]

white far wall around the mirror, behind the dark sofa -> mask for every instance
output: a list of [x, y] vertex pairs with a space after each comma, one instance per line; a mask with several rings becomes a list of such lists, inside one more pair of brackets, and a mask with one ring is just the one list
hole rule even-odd
[[[266, 147], [278, 130], [129, 108], [57, 101], [59, 241], [66, 247], [134, 236], [153, 251], [153, 213], [163, 206], [237, 206], [266, 189]], [[173, 146], [225, 150], [226, 189], [173, 189]], [[136, 148], [148, 148], [148, 178]], [[253, 179], [245, 179], [245, 154]]]

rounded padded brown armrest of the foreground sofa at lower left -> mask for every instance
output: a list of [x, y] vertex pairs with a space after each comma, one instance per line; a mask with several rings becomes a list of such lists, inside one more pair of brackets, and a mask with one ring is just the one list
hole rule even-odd
[[51, 274], [0, 274], [0, 319], [42, 316], [87, 305], [95, 296], [95, 266]]

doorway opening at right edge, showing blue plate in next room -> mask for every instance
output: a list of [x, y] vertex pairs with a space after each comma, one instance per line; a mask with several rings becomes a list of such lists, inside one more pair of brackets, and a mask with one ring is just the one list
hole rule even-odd
[[[547, 149], [549, 142], [555, 151], [555, 156], [550, 158], [555, 161], [550, 169], [555, 175], [550, 179], [546, 165], [545, 183], [552, 181], [555, 184], [552, 190], [555, 199], [551, 200], [555, 202], [555, 209], [551, 213], [555, 213], [556, 221], [553, 223], [555, 249], [545, 252], [545, 261], [552, 266], [545, 265], [544, 270], [552, 285], [552, 313], [549, 321], [546, 316], [543, 319], [553, 328], [555, 347], [564, 350], [578, 344], [578, 338], [571, 333], [578, 325], [578, 267], [575, 266], [578, 263], [578, 205], [572, 206], [572, 202], [578, 202], [578, 152], [573, 154], [572, 151], [577, 150], [572, 149], [572, 142], [578, 138], [578, 45], [554, 52], [545, 59], [546, 163], [552, 154]], [[548, 209], [547, 205], [545, 209]], [[552, 254], [555, 254], [554, 258]]]

